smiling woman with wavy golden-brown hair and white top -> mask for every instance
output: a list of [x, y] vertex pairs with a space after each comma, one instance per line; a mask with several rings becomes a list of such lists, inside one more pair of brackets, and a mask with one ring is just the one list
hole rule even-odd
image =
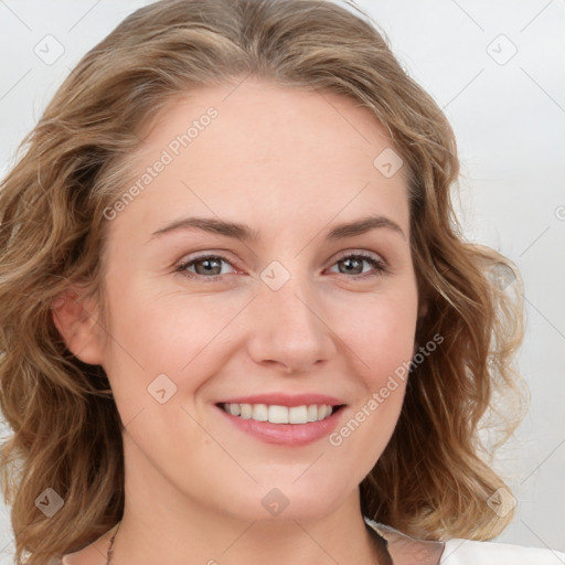
[[338, 6], [127, 18], [0, 191], [17, 557], [563, 558], [483, 543], [513, 515], [478, 429], [497, 394], [519, 423], [521, 305], [458, 233], [457, 175], [437, 105]]

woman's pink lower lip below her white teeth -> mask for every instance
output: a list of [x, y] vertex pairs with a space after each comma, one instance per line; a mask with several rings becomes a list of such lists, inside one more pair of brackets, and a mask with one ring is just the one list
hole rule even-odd
[[258, 422], [256, 419], [233, 416], [218, 406], [214, 407], [234, 426], [255, 438], [266, 444], [288, 446], [305, 446], [329, 436], [335, 428], [338, 418], [341, 417], [341, 413], [345, 408], [345, 406], [342, 406], [331, 416], [320, 422], [309, 422], [307, 424], [273, 424], [270, 422]]

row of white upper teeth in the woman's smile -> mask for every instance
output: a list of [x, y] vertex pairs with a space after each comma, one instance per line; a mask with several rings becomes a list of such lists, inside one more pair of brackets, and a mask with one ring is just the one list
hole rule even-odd
[[273, 424], [306, 424], [327, 418], [332, 407], [328, 404], [310, 404], [309, 406], [277, 406], [267, 404], [237, 404], [224, 403], [225, 412], [233, 416]]

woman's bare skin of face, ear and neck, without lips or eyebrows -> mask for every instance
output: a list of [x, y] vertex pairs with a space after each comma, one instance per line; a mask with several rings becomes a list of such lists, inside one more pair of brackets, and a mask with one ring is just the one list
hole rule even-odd
[[[358, 486], [394, 430], [403, 381], [339, 447], [328, 437], [259, 441], [214, 404], [330, 394], [347, 404], [340, 429], [409, 362], [418, 296], [404, 169], [386, 178], [373, 166], [394, 146], [355, 102], [247, 78], [171, 103], [135, 156], [137, 178], [211, 106], [217, 117], [109, 222], [106, 326], [94, 300], [55, 310], [71, 351], [104, 366], [126, 425], [114, 562], [380, 563]], [[369, 214], [404, 235], [380, 227], [326, 239], [332, 226]], [[259, 239], [191, 228], [149, 242], [185, 216], [241, 222]], [[348, 271], [342, 259], [355, 252], [384, 260], [386, 271], [367, 262]], [[217, 253], [228, 262], [221, 271], [206, 275], [202, 262], [175, 271]], [[278, 290], [260, 277], [274, 260], [290, 276]], [[159, 374], [177, 386], [163, 404], [148, 393]], [[278, 515], [262, 504], [274, 488], [288, 500]], [[105, 563], [107, 537], [67, 563]]]

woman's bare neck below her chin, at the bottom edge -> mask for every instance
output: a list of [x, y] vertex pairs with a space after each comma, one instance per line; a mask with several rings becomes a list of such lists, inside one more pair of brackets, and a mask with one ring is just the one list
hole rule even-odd
[[[340, 514], [323, 520], [289, 520], [247, 522], [222, 529], [191, 524], [178, 529], [179, 534], [154, 526], [151, 534], [147, 521], [125, 512], [124, 519], [108, 532], [108, 563], [111, 565], [146, 565], [166, 562], [170, 565], [205, 563], [225, 565], [273, 565], [301, 563], [312, 565], [388, 565], [386, 544], [365, 525], [358, 513], [341, 522]], [[200, 527], [199, 527], [200, 525]], [[149, 527], [148, 527], [149, 526]], [[118, 535], [119, 533], [119, 535]], [[113, 541], [114, 540], [114, 541]], [[179, 543], [179, 540], [181, 542]]]

